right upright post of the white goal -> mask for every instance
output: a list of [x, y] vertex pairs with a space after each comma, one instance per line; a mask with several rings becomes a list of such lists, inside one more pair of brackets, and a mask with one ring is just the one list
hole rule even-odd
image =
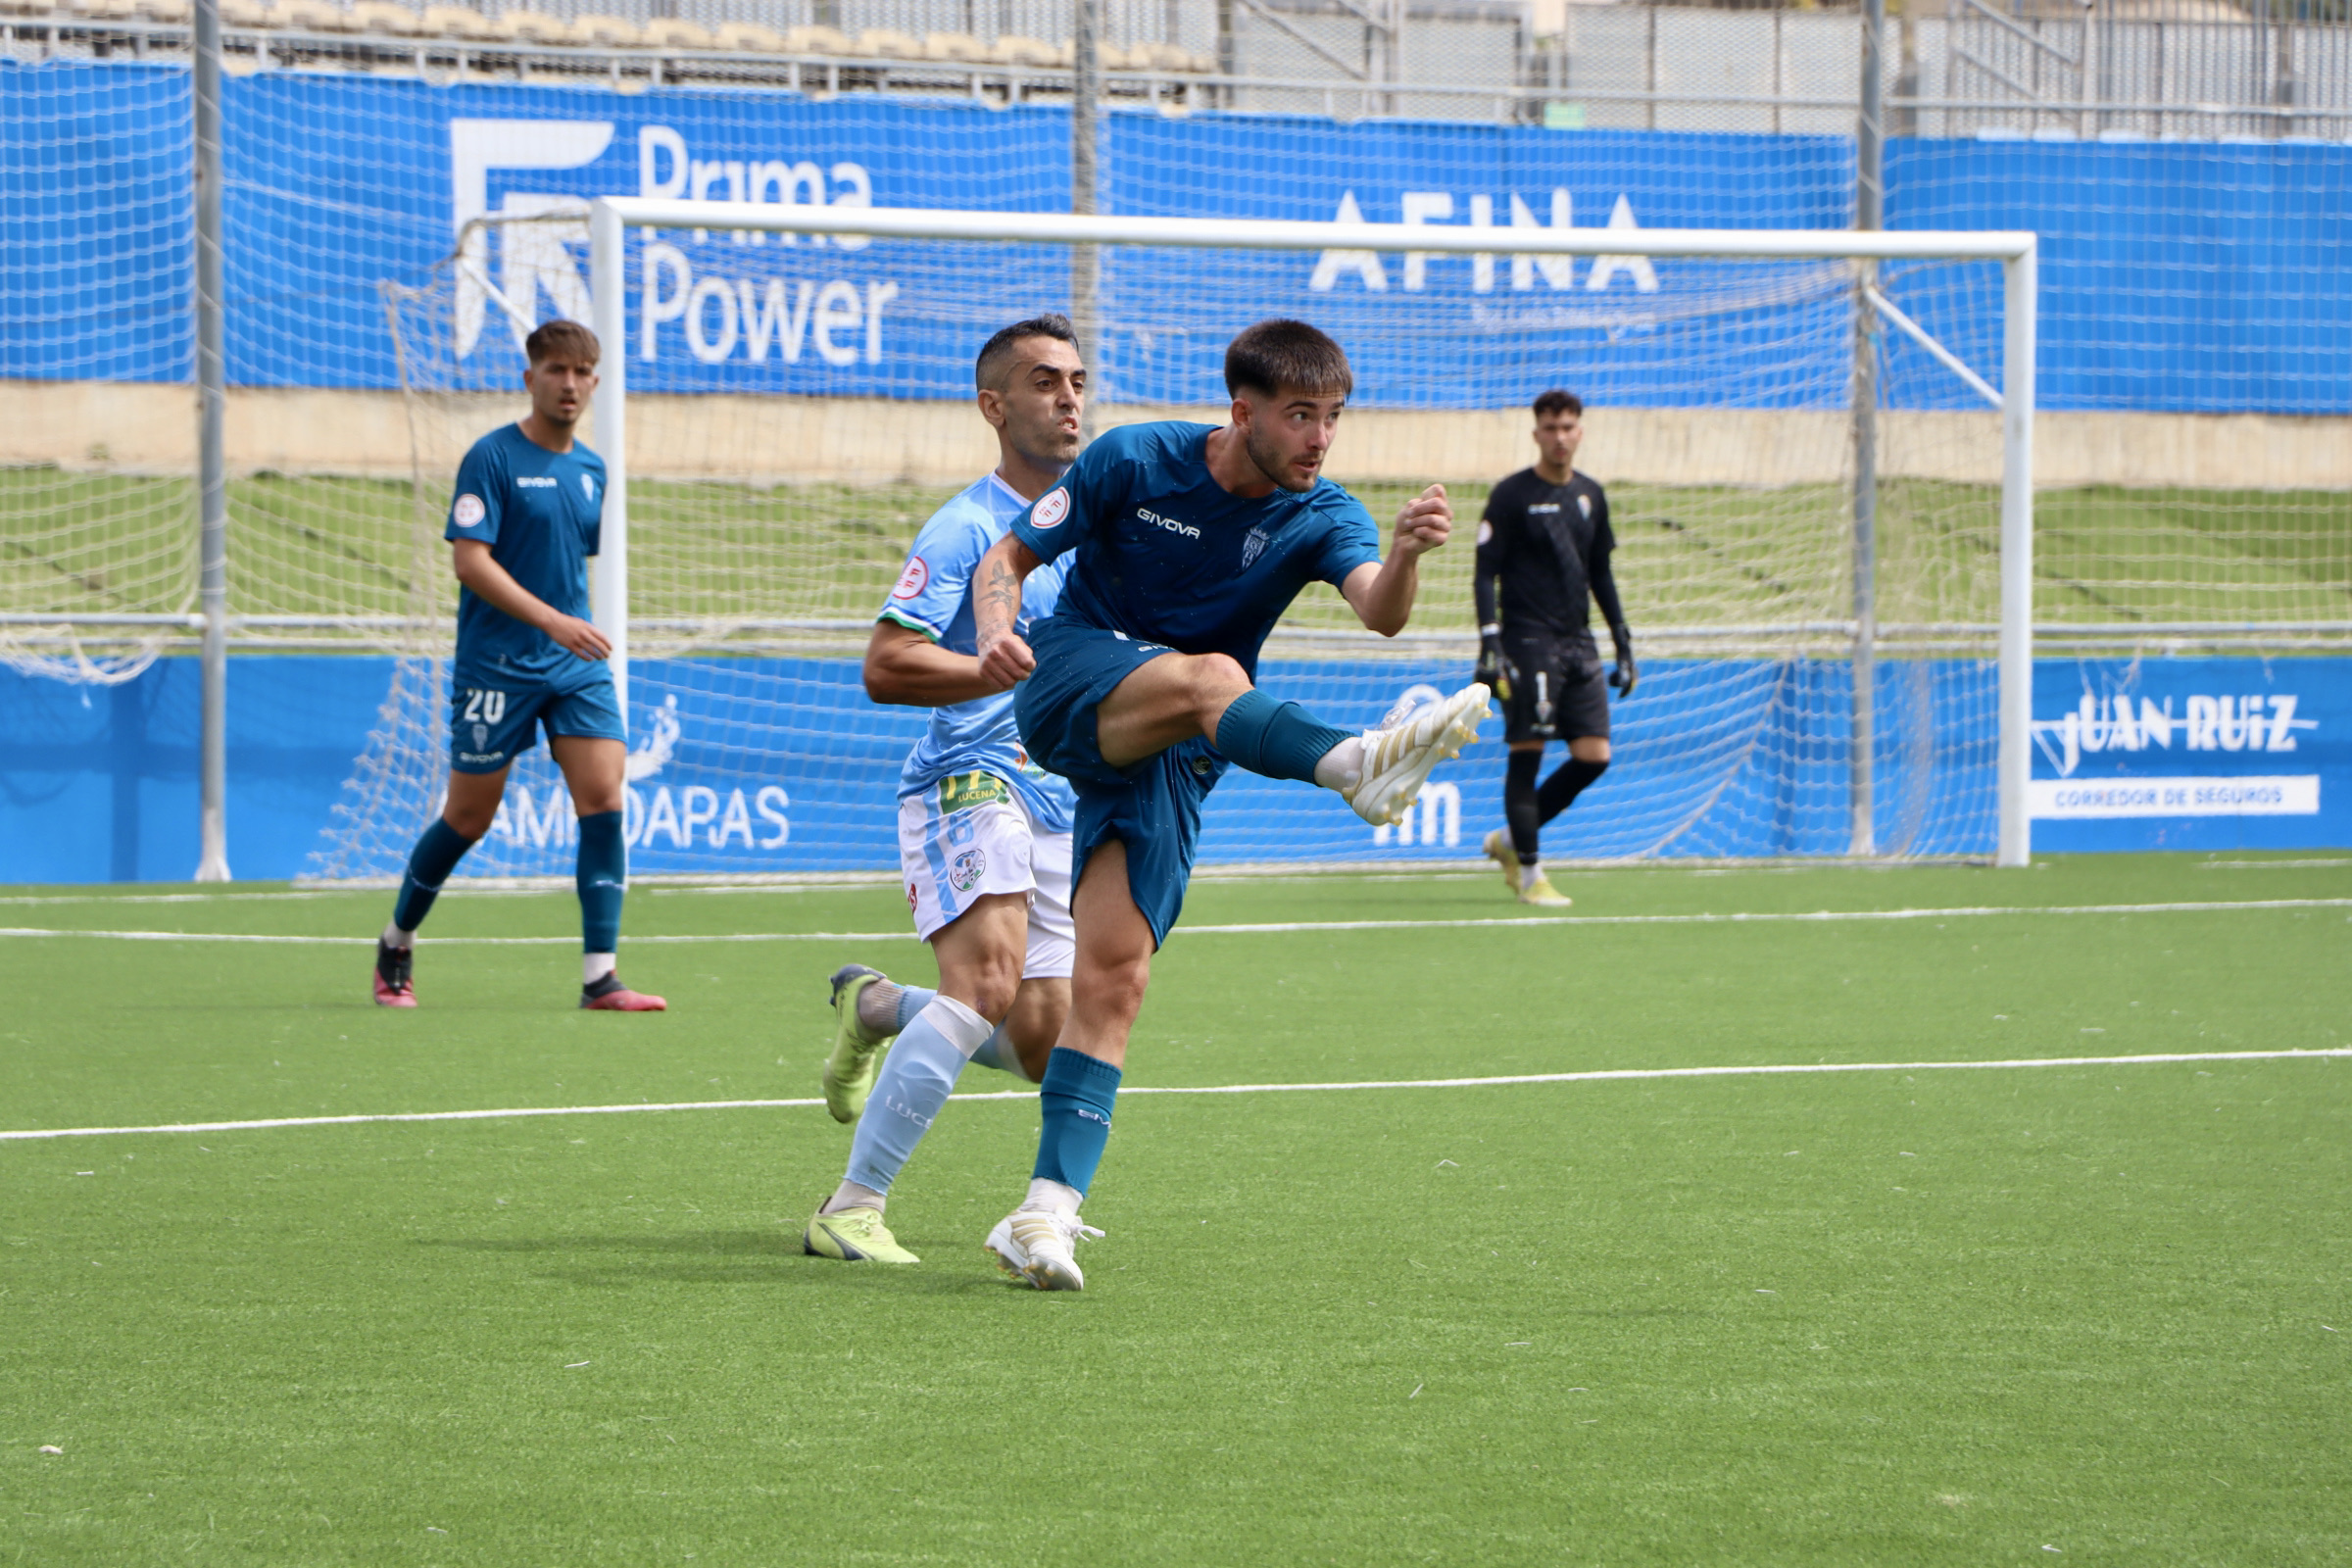
[[2034, 303], [2037, 247], [2002, 263], [2002, 865], [2030, 865], [2034, 726]]

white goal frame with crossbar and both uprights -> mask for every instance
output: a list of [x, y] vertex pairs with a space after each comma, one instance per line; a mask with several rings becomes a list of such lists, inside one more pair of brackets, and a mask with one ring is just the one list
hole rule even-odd
[[[1404, 226], [1404, 223], [1298, 223], [1298, 221], [1214, 221], [1152, 216], [1080, 216], [1035, 212], [931, 212], [889, 207], [816, 207], [786, 202], [684, 202], [652, 197], [600, 197], [590, 202], [590, 299], [593, 327], [604, 341], [602, 388], [597, 393], [595, 440], [609, 465], [604, 498], [602, 555], [595, 562], [595, 618], [614, 644], [612, 663], [626, 710], [628, 679], [628, 559], [630, 559], [630, 301], [628, 301], [628, 230], [701, 233], [774, 233], [774, 235], [849, 235], [851, 244], [868, 240], [936, 240], [1070, 247], [1073, 270], [1094, 266], [1096, 247], [1204, 247], [1232, 252], [1322, 252], [1322, 254], [1402, 254], [1406, 280], [1416, 256], [1470, 256], [1494, 275], [1494, 256], [1529, 259], [1719, 259], [1719, 261], [1813, 261], [1853, 263], [1853, 299], [1875, 322], [1905, 334], [1985, 402], [1999, 407], [1999, 625], [1997, 625], [1997, 863], [2025, 865], [2030, 858], [2027, 778], [2032, 733], [2032, 421], [2034, 421], [2034, 299], [2037, 235], [2032, 233], [1940, 233], [1940, 230], [1708, 230], [1708, 228], [1491, 228], [1491, 226]], [[1910, 315], [1877, 289], [1877, 263], [1999, 263], [2002, 268], [2002, 374], [1999, 388], [1976, 374], [1962, 355], [1938, 343]], [[1515, 266], [1526, 266], [1515, 261]], [[1538, 261], [1541, 266], [1541, 261]], [[1051, 296], [1061, 296], [1054, 280]], [[1416, 287], [1406, 282], [1406, 287]], [[1524, 287], [1524, 284], [1522, 284]], [[1599, 284], [1592, 284], [1599, 287]], [[1094, 299], [1091, 287], [1070, 289], [1075, 299]], [[501, 301], [503, 303], [503, 301]], [[1087, 336], [1089, 322], [1080, 317]], [[727, 308], [727, 331], [734, 334], [734, 308]], [[1091, 348], [1091, 346], [1089, 346]], [[1990, 343], [1987, 343], [1990, 348]], [[1867, 381], [1867, 378], [1865, 378]], [[1978, 404], [1983, 407], [1983, 404]], [[1867, 440], [1867, 437], [1865, 437]], [[1863, 461], [1865, 484], [1870, 463]], [[1442, 475], [1432, 475], [1442, 477]], [[1872, 646], [1872, 611], [1863, 602], [1851, 623], [1856, 670], [1863, 672]], [[1966, 632], [1983, 637], [1987, 625], [1926, 625], [1915, 632]], [[1926, 644], [1922, 644], [1926, 646]], [[1872, 701], [1870, 679], [1860, 682], [1863, 705]], [[1863, 771], [1856, 795], [1867, 811], [1867, 712], [1856, 715]], [[1865, 835], [1856, 837], [1858, 844]]]

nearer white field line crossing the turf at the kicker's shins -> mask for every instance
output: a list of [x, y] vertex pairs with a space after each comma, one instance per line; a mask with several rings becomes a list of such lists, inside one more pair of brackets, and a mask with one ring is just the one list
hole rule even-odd
[[[2161, 1067], [2171, 1063], [2277, 1063], [2352, 1058], [2352, 1046], [2321, 1051], [2180, 1051], [2164, 1056], [2044, 1056], [1994, 1063], [1788, 1063], [1769, 1067], [1604, 1067], [1595, 1072], [1519, 1072], [1496, 1079], [1374, 1079], [1362, 1084], [1204, 1084], [1122, 1088], [1122, 1095], [1270, 1095], [1345, 1093], [1357, 1088], [1508, 1088], [1517, 1084], [1616, 1084], [1628, 1079], [1743, 1079], [1825, 1072], [1992, 1072], [2016, 1067]], [[962, 1100], [1035, 1100], [1035, 1088], [955, 1095]], [[532, 1105], [515, 1110], [414, 1110], [360, 1117], [263, 1117], [254, 1121], [167, 1121], [160, 1126], [54, 1126], [0, 1131], [0, 1143], [40, 1138], [115, 1138], [125, 1133], [252, 1133], [278, 1126], [358, 1126], [362, 1121], [517, 1121], [524, 1117], [626, 1117], [670, 1110], [807, 1110], [823, 1100], [677, 1100], [668, 1105]]]

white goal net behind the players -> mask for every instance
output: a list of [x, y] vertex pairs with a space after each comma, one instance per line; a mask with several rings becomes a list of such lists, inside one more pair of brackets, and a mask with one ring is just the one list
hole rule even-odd
[[[320, 872], [395, 872], [437, 806], [440, 515], [463, 449], [522, 411], [522, 331], [590, 313], [583, 287], [513, 280], [581, 277], [590, 226], [597, 621], [626, 637], [635, 872], [896, 865], [922, 715], [868, 703], [856, 658], [915, 531], [995, 463], [981, 341], [1073, 303], [1096, 428], [1223, 421], [1228, 339], [1298, 315], [1355, 364], [1331, 477], [1383, 520], [1446, 484], [1461, 531], [1404, 637], [1312, 590], [1268, 642], [1261, 684], [1341, 724], [1468, 677], [1484, 496], [1534, 461], [1534, 395], [1583, 397], [1578, 468], [1609, 491], [1642, 684], [1548, 856], [2020, 858], [2032, 237], [1576, 228], [1548, 200], [1494, 202], [1486, 233], [649, 200], [473, 230], [388, 294], [412, 630]], [[1096, 282], [1073, 301], [1073, 277]], [[1503, 820], [1498, 738], [1397, 830], [1235, 773], [1202, 853], [1472, 856]], [[569, 872], [572, 842], [539, 750], [466, 872]]]

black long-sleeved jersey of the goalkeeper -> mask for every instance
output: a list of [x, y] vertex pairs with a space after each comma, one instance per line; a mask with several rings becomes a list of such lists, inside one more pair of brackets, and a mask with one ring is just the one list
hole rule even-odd
[[1611, 550], [1609, 496], [1597, 482], [1571, 470], [1566, 484], [1550, 484], [1522, 468], [1494, 487], [1477, 527], [1479, 625], [1501, 621], [1505, 635], [1571, 637], [1592, 628], [1588, 597], [1599, 599], [1609, 625], [1623, 625]]

